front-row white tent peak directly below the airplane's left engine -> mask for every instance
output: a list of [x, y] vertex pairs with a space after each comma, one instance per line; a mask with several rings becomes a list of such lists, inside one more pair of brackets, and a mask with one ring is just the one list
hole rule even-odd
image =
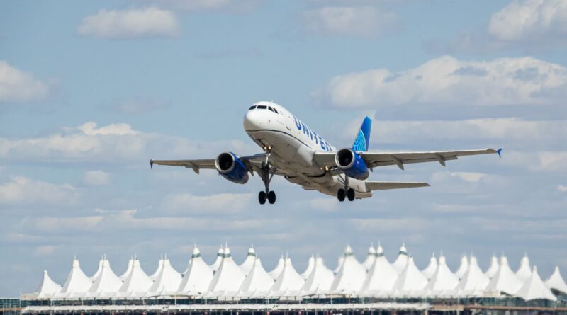
[[235, 263], [230, 254], [230, 248], [225, 247], [223, 252], [223, 260], [215, 273], [208, 291], [214, 294], [222, 294], [223, 292], [237, 292], [244, 281], [245, 274], [242, 269]]

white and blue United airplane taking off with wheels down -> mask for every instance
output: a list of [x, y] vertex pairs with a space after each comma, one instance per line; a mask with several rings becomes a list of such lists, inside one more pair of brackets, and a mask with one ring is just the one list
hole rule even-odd
[[398, 166], [422, 162], [456, 160], [460, 156], [498, 154], [502, 149], [431, 152], [374, 152], [368, 151], [372, 120], [364, 118], [352, 147], [337, 150], [313, 129], [305, 125], [283, 106], [259, 101], [249, 107], [244, 116], [244, 129], [264, 151], [250, 156], [223, 152], [216, 159], [150, 160], [154, 164], [184, 166], [195, 173], [201, 169], [216, 169], [228, 181], [237, 184], [248, 182], [248, 174], [257, 173], [264, 182], [258, 193], [261, 205], [276, 202], [276, 193], [270, 189], [274, 175], [300, 185], [305, 190], [337, 197], [342, 202], [372, 197], [374, 190], [418, 188], [427, 183], [368, 181], [371, 171], [382, 166]]

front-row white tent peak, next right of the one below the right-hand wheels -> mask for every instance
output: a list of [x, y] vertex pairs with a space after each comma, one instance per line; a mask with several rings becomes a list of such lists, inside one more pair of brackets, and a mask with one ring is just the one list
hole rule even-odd
[[384, 256], [382, 246], [378, 244], [376, 259], [374, 263], [372, 263], [368, 273], [366, 273], [366, 279], [362, 285], [361, 292], [363, 294], [370, 292], [390, 292], [397, 279], [398, 271], [388, 262], [388, 259]]

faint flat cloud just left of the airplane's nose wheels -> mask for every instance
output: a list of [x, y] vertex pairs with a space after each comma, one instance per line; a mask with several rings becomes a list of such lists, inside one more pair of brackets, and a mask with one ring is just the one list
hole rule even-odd
[[191, 195], [179, 193], [164, 198], [163, 206], [169, 210], [197, 210], [198, 212], [238, 212], [252, 200], [250, 193], [220, 193], [215, 195]]

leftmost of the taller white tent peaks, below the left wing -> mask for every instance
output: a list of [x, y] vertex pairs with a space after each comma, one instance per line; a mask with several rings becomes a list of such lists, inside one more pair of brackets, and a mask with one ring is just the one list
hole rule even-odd
[[203, 293], [207, 291], [210, 280], [213, 280], [213, 270], [205, 263], [205, 260], [201, 257], [201, 251], [195, 246], [191, 260], [189, 260], [187, 273], [183, 276], [177, 291], [190, 294]]

